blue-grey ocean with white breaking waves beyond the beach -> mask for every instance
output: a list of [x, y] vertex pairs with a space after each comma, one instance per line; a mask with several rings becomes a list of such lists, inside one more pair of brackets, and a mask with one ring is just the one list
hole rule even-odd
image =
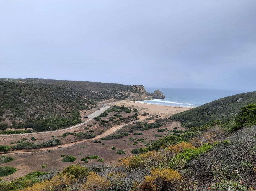
[[217, 89], [189, 89], [189, 88], [147, 88], [146, 91], [153, 93], [159, 89], [164, 93], [165, 99], [153, 99], [137, 101], [156, 105], [171, 105], [180, 107], [197, 107], [211, 101], [232, 96], [238, 93], [245, 93], [238, 90], [217, 90]]

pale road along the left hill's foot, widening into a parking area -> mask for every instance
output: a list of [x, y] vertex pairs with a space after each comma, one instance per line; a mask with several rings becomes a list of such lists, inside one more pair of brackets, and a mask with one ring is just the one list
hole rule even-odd
[[69, 128], [59, 129], [59, 130], [55, 130], [55, 131], [42, 131], [42, 132], [33, 132], [33, 133], [18, 133], [18, 134], [0, 135], [0, 137], [15, 136], [15, 135], [33, 135], [33, 134], [40, 134], [40, 133], [53, 133], [53, 132], [57, 132], [57, 131], [64, 131], [64, 130], [69, 130], [69, 129], [77, 128], [77, 127], [79, 127], [81, 125], [84, 125], [85, 123], [88, 123], [94, 117], [99, 116], [100, 114], [102, 114], [104, 111], [106, 111], [110, 107], [111, 107], [111, 105], [106, 105], [105, 107], [100, 108], [100, 110], [94, 111], [93, 113], [88, 115], [89, 120], [87, 120], [87, 121], [85, 121], [83, 123], [79, 123], [79, 124], [74, 125], [74, 126], [69, 127]]

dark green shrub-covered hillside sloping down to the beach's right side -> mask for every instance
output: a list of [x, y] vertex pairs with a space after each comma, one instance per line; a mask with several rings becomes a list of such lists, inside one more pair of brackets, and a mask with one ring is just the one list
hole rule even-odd
[[184, 127], [206, 125], [213, 120], [227, 122], [245, 105], [256, 103], [256, 91], [221, 98], [202, 106], [172, 115], [170, 119], [180, 121]]

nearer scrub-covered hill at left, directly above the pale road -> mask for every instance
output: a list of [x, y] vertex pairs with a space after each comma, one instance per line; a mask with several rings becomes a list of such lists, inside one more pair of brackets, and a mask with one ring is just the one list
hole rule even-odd
[[92, 104], [69, 88], [1, 81], [0, 129], [68, 127], [80, 123], [79, 110], [89, 110]]

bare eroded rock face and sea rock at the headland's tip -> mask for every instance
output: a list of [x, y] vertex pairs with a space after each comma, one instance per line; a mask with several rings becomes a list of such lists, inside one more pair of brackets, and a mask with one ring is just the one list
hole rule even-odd
[[118, 91], [116, 92], [116, 99], [129, 99], [129, 100], [152, 100], [152, 99], [164, 99], [164, 94], [160, 90], [154, 91], [154, 93], [149, 93], [145, 90], [144, 86], [138, 85], [133, 86], [130, 91]]

